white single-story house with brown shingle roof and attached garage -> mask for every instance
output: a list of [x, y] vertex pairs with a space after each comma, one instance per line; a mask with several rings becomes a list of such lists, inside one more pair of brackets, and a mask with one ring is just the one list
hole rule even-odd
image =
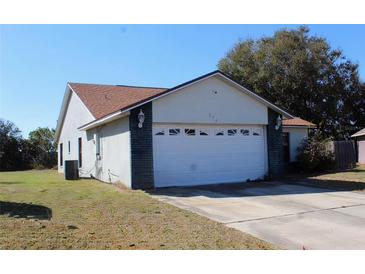
[[220, 71], [170, 89], [68, 83], [58, 171], [78, 160], [80, 176], [133, 189], [275, 177], [312, 125]]

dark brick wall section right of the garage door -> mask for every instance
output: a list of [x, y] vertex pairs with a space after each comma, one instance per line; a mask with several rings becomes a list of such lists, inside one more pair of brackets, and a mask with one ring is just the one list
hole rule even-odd
[[277, 117], [278, 113], [271, 109], [268, 110], [267, 152], [269, 176], [272, 178], [279, 177], [284, 166], [282, 127], [278, 130], [275, 129]]

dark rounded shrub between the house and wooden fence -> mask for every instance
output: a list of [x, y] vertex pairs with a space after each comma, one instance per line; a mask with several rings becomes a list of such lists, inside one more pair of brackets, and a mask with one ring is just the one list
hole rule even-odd
[[334, 168], [334, 153], [329, 149], [330, 139], [314, 134], [298, 147], [298, 168], [306, 172], [326, 171]]

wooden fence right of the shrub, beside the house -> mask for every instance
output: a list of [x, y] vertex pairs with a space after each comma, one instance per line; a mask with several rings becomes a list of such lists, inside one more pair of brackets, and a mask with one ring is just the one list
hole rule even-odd
[[356, 145], [353, 140], [332, 141], [329, 147], [335, 155], [337, 169], [351, 169], [356, 166]]

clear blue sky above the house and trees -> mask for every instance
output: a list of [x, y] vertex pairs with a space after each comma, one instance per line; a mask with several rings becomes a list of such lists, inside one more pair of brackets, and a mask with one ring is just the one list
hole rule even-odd
[[[55, 128], [67, 82], [173, 87], [217, 69], [239, 40], [298, 25], [0, 25], [0, 118]], [[365, 25], [308, 25], [360, 65]]]

